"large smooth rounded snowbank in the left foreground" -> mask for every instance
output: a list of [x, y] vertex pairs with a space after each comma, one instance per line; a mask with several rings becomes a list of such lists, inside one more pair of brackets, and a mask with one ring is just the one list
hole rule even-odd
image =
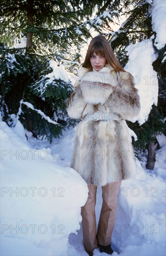
[[1, 255], [66, 255], [69, 234], [80, 228], [86, 183], [49, 148], [32, 148], [19, 121], [0, 126]]

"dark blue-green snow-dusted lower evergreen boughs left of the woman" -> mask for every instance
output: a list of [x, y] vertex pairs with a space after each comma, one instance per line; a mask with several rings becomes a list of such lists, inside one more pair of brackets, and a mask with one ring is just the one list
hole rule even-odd
[[[73, 88], [70, 81], [55, 77], [48, 81], [46, 74], [52, 69], [47, 57], [21, 54], [23, 51], [13, 49], [10, 53], [6, 50], [1, 52], [0, 70], [6, 74], [0, 77], [2, 118], [9, 126], [14, 126], [20, 117], [24, 127], [34, 136], [45, 136], [52, 141], [53, 137], [62, 134], [65, 127], [74, 125], [66, 113], [67, 98]], [[31, 103], [38, 111], [23, 102]]]

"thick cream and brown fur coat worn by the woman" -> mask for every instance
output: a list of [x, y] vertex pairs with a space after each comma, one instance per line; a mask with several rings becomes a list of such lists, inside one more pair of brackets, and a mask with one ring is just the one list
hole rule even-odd
[[[99, 72], [78, 70], [80, 81], [67, 102], [70, 118], [77, 126], [70, 167], [88, 184], [104, 186], [129, 178], [134, 169], [134, 152], [125, 120], [136, 121], [140, 110], [133, 76], [117, 72], [109, 64]], [[99, 111], [105, 120], [86, 118]]]

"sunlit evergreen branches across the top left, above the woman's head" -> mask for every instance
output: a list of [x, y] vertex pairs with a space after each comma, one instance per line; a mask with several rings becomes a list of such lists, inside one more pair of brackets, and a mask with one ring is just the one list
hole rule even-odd
[[56, 44], [58, 49], [64, 50], [64, 47], [81, 44], [83, 39], [88, 39], [92, 28], [101, 33], [102, 26], [108, 24], [112, 17], [118, 17], [117, 12], [112, 13], [108, 9], [109, 2], [1, 0], [1, 40], [12, 46], [13, 37], [32, 33], [34, 46], [45, 45], [52, 49]]

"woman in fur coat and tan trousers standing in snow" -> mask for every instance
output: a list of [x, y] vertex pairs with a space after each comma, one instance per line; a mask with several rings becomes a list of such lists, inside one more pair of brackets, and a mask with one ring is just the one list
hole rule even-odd
[[[67, 102], [71, 118], [82, 120], [77, 126], [71, 160], [87, 182], [89, 196], [81, 209], [83, 243], [89, 255], [112, 254], [110, 245], [121, 180], [135, 168], [133, 148], [125, 120], [133, 121], [140, 109], [133, 76], [116, 59], [109, 42], [98, 35], [89, 44], [80, 81]], [[102, 209], [96, 229], [96, 189], [102, 186]]]

